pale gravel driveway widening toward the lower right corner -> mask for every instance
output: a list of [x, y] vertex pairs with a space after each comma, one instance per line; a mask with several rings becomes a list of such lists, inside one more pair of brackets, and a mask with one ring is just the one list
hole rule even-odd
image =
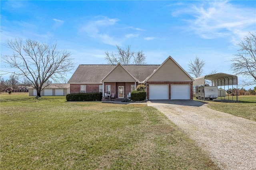
[[256, 170], [256, 122], [207, 106], [153, 106], [196, 141], [221, 169]]

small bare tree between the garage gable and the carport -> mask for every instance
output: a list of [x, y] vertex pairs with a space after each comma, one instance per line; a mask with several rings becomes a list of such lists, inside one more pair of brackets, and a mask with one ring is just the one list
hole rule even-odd
[[197, 56], [196, 58], [192, 61], [190, 60], [188, 64], [188, 73], [192, 74], [194, 77], [200, 77], [204, 71], [203, 67], [205, 65], [204, 60], [200, 60]]

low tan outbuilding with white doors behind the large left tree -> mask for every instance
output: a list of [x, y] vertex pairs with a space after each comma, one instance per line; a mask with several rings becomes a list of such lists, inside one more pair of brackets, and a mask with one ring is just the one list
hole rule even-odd
[[[62, 83], [45, 84], [44, 90], [41, 92], [41, 96], [66, 96], [70, 93], [70, 85]], [[28, 87], [29, 96], [37, 96], [36, 89], [32, 86]]]

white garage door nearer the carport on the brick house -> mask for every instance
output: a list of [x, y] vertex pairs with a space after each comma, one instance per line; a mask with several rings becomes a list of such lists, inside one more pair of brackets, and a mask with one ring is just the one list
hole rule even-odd
[[189, 84], [172, 84], [171, 85], [171, 100], [175, 99], [190, 99]]

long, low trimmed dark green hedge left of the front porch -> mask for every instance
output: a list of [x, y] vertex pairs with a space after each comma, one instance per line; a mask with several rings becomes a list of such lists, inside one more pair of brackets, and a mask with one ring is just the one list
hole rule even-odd
[[73, 93], [67, 94], [67, 101], [101, 101], [102, 93]]

